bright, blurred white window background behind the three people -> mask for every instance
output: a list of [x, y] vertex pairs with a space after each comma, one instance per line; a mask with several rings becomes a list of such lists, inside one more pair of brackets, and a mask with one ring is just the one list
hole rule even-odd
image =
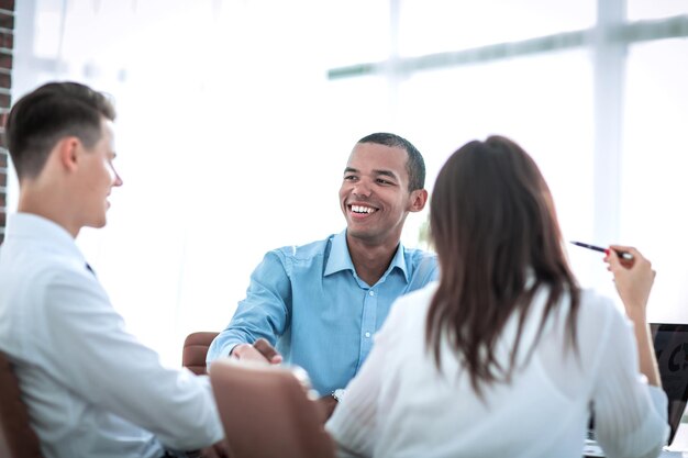
[[[650, 319], [688, 322], [686, 0], [21, 0], [12, 77], [13, 100], [67, 79], [114, 98], [124, 186], [78, 243], [171, 366], [266, 250], [344, 228], [343, 168], [378, 131], [423, 153], [429, 190], [464, 143], [513, 138], [565, 239], [639, 247]], [[425, 221], [404, 244], [426, 246]], [[567, 250], [613, 294], [603, 255]]]

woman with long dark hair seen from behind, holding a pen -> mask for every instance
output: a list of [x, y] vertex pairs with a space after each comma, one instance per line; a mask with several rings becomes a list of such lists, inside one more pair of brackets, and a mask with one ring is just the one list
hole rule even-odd
[[400, 298], [376, 335], [328, 423], [341, 456], [579, 458], [592, 409], [607, 456], [661, 453], [654, 271], [636, 249], [604, 258], [624, 316], [578, 286], [544, 178], [500, 136], [450, 157], [430, 227], [440, 280]]

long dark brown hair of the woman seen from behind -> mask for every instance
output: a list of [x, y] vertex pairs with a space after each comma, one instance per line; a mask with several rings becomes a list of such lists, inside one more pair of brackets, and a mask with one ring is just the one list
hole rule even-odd
[[496, 343], [514, 313], [520, 336], [542, 287], [548, 298], [535, 343], [545, 319], [568, 293], [567, 338], [577, 348], [580, 288], [564, 254], [550, 189], [519, 145], [490, 136], [456, 150], [435, 181], [430, 232], [441, 276], [425, 340], [437, 368], [446, 336], [479, 395], [485, 384], [509, 382], [520, 337], [508, 365], [497, 360]]

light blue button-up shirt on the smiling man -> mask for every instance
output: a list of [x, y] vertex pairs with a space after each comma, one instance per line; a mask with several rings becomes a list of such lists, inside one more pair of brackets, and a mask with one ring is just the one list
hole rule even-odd
[[392, 302], [435, 279], [433, 254], [399, 244], [387, 271], [368, 286], [356, 275], [346, 231], [268, 252], [251, 276], [246, 299], [212, 343], [208, 362], [264, 337], [286, 364], [308, 371], [320, 394], [329, 394], [356, 375]]

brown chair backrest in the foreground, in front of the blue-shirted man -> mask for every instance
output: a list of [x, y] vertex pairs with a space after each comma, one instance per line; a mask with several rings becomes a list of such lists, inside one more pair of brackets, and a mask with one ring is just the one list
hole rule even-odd
[[210, 382], [232, 458], [333, 458], [322, 414], [295, 373], [220, 359]]

